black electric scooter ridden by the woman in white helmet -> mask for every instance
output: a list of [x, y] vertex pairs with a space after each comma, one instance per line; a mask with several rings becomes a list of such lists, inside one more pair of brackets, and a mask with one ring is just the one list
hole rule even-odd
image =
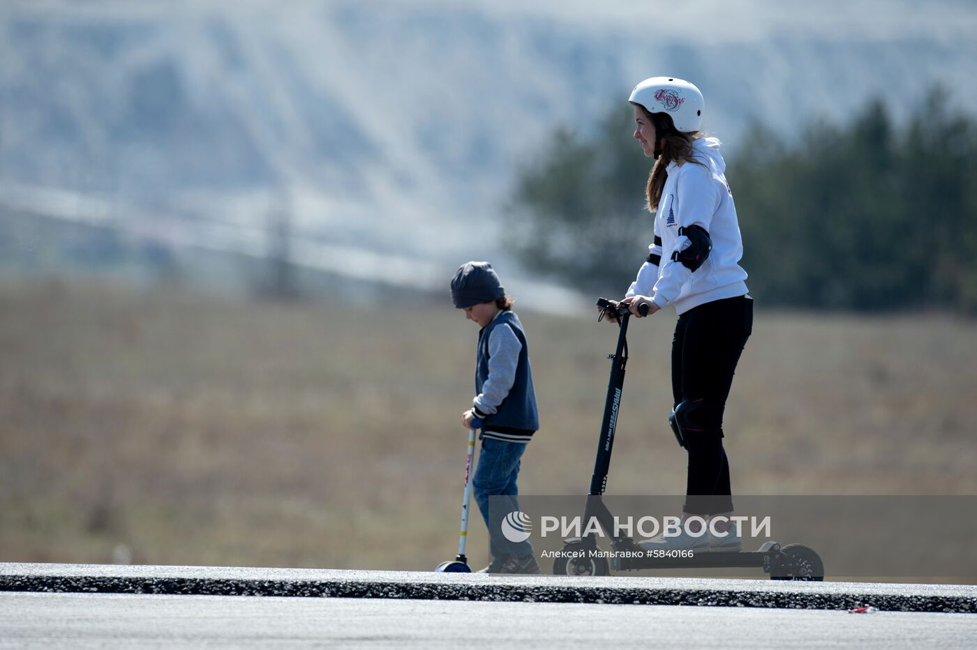
[[[605, 317], [616, 319], [618, 325], [617, 348], [611, 359], [611, 381], [608, 384], [607, 400], [604, 405], [604, 419], [597, 445], [597, 458], [594, 461], [594, 474], [590, 479], [583, 508], [583, 520], [596, 518], [604, 531], [614, 531], [614, 515], [604, 504], [603, 495], [607, 488], [608, 472], [611, 467], [611, 451], [617, 414], [620, 408], [621, 391], [624, 387], [624, 366], [627, 365], [627, 323], [631, 312], [626, 305], [619, 305], [606, 298], [597, 300], [601, 309], [598, 320]], [[647, 313], [648, 305], [642, 315]], [[800, 544], [781, 547], [776, 542], [765, 542], [753, 552], [743, 551], [697, 551], [693, 557], [657, 557], [635, 544], [630, 537], [615, 537], [611, 542], [612, 561], [598, 552], [597, 535], [589, 534], [582, 538], [564, 540], [563, 552], [553, 562], [553, 573], [561, 576], [608, 576], [611, 569], [634, 571], [638, 569], [699, 569], [719, 567], [762, 567], [772, 580], [824, 580], [825, 567], [821, 557], [812, 548]]]

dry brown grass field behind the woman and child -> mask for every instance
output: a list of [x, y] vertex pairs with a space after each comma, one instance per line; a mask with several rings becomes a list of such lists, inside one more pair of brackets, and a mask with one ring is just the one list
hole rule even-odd
[[[517, 311], [542, 420], [521, 491], [583, 494], [616, 330]], [[609, 494], [684, 490], [673, 321], [632, 325]], [[430, 570], [456, 550], [476, 335], [447, 301], [4, 284], [0, 561]], [[761, 310], [726, 414], [741, 494], [977, 494], [977, 328]]]

